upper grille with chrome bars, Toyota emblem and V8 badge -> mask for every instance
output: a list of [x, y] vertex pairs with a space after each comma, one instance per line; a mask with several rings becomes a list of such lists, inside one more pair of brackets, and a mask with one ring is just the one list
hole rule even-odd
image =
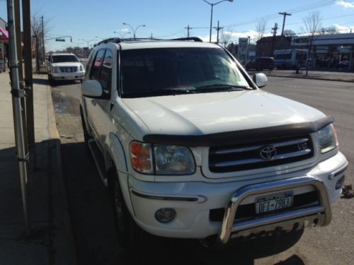
[[270, 167], [312, 158], [314, 146], [311, 136], [299, 136], [237, 146], [211, 147], [211, 172], [234, 172]]

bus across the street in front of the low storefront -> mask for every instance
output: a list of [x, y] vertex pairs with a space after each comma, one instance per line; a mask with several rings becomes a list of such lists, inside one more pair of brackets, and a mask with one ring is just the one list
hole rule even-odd
[[274, 51], [277, 69], [296, 69], [307, 64], [307, 49], [278, 49]]

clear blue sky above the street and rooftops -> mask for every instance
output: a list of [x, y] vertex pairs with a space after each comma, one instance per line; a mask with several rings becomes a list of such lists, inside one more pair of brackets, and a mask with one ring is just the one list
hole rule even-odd
[[[66, 47], [87, 47], [108, 37], [176, 38], [190, 36], [209, 41], [211, 5], [219, 0], [31, 0], [33, 16], [43, 16], [47, 51]], [[0, 0], [0, 17], [7, 20], [6, 0]], [[220, 35], [230, 35], [230, 41], [250, 37], [256, 42], [256, 25], [266, 20], [266, 35], [270, 35], [275, 23], [281, 33], [283, 16], [285, 30], [304, 33], [303, 18], [318, 11], [323, 27], [336, 26], [340, 33], [354, 33], [354, 0], [249, 0], [221, 1], [213, 6], [212, 26], [219, 20]], [[123, 25], [127, 23], [129, 25]], [[142, 26], [145, 25], [145, 26]], [[114, 33], [116, 32], [116, 33]], [[212, 41], [216, 40], [212, 30]], [[56, 42], [56, 37], [65, 42]], [[52, 39], [52, 40], [48, 40]]]

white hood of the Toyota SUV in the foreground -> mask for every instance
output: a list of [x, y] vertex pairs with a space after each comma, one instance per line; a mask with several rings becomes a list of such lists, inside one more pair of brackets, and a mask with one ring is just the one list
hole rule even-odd
[[322, 112], [263, 90], [123, 98], [150, 134], [203, 135], [314, 122]]

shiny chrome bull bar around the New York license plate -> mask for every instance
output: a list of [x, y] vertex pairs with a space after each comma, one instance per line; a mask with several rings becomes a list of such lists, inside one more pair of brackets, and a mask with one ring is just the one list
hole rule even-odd
[[[295, 211], [287, 211], [279, 213], [273, 216], [265, 216], [263, 218], [257, 218], [255, 220], [247, 220], [244, 222], [234, 223], [235, 215], [239, 204], [248, 196], [265, 194], [268, 192], [279, 192], [297, 187], [303, 187], [311, 185], [314, 186], [319, 192], [321, 205], [303, 208]], [[222, 220], [222, 226], [219, 231], [217, 244], [226, 244], [233, 233], [239, 233], [240, 231], [258, 229], [265, 227], [281, 227], [282, 223], [287, 225], [294, 225], [295, 220], [315, 220], [317, 218], [316, 225], [328, 225], [331, 222], [331, 205], [329, 203], [329, 196], [327, 194], [326, 186], [321, 179], [312, 176], [295, 177], [292, 179], [282, 179], [275, 182], [265, 182], [261, 184], [253, 184], [243, 187], [236, 191], [230, 198], [224, 213], [224, 219]], [[232, 235], [235, 237], [238, 235]]]

